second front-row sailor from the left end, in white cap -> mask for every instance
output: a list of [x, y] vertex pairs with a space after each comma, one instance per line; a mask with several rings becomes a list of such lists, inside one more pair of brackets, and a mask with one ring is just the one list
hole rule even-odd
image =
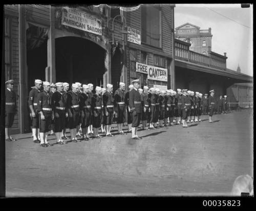
[[63, 97], [63, 83], [58, 82], [55, 84], [57, 91], [52, 95], [52, 106], [54, 112], [54, 133], [56, 136], [57, 144], [64, 144], [61, 138], [61, 133], [65, 127], [66, 118], [68, 117], [68, 109], [66, 107], [66, 100]]

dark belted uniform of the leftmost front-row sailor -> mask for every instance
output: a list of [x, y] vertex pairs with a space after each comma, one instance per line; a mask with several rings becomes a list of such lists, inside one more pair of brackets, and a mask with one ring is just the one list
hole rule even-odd
[[46, 133], [51, 130], [52, 124], [52, 104], [51, 94], [45, 90], [40, 91], [37, 97], [37, 111], [42, 112], [45, 119], [41, 119], [39, 114], [39, 132]]

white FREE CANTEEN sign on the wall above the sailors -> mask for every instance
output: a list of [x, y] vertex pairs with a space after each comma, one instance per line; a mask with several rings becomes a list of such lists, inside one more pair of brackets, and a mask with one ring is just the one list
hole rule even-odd
[[167, 82], [167, 69], [136, 62], [136, 72], [147, 74], [147, 78]]

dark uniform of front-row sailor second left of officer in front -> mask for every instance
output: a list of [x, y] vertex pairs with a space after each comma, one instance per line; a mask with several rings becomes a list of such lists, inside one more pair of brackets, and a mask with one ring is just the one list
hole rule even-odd
[[[105, 125], [111, 125], [113, 123], [114, 117], [114, 98], [113, 95], [106, 91], [103, 94], [103, 107], [104, 107], [104, 123]], [[108, 111], [109, 115], [106, 116], [106, 111]]]

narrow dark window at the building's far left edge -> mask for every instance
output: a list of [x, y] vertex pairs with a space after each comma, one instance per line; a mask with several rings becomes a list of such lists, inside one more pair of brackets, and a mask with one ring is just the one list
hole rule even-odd
[[11, 58], [10, 58], [10, 21], [9, 17], [5, 17], [5, 80], [8, 81], [12, 78], [11, 71]]

